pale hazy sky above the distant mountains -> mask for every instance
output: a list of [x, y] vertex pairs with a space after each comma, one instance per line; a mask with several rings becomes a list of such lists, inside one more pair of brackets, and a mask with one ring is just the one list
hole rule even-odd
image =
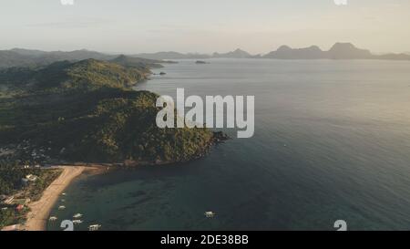
[[0, 49], [266, 53], [348, 41], [410, 51], [409, 0], [74, 1], [0, 0]]

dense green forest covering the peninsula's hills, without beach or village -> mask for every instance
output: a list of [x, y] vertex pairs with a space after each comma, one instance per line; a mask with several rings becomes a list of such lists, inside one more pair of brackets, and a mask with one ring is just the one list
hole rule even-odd
[[0, 99], [1, 143], [28, 141], [21, 153], [42, 150], [67, 161], [159, 163], [198, 158], [212, 143], [207, 129], [157, 127], [158, 96], [130, 89], [147, 78], [148, 67], [87, 59], [21, 70], [19, 77], [15, 68], [0, 73], [0, 84], [26, 89]]

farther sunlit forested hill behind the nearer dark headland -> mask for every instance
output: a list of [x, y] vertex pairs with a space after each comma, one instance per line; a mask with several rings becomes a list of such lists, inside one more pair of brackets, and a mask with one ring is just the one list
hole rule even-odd
[[11, 67], [0, 71], [0, 84], [11, 88], [54, 90], [128, 88], [150, 74], [149, 67], [123, 67], [96, 59], [61, 61], [47, 67]]

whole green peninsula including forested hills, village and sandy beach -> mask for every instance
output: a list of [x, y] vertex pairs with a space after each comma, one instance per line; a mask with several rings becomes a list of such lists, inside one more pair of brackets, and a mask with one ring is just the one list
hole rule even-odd
[[[157, 127], [159, 96], [134, 89], [149, 78], [151, 67], [161, 67], [157, 62], [120, 56], [0, 70], [5, 89], [0, 160], [10, 161], [0, 163], [0, 170], [15, 171], [13, 177], [7, 173], [0, 178], [5, 185], [0, 195], [7, 195], [5, 202], [12, 200], [2, 206], [7, 210], [2, 210], [0, 226], [20, 222], [24, 225], [12, 228], [44, 230], [59, 194], [88, 163], [125, 167], [191, 161], [226, 139], [206, 128]], [[41, 184], [22, 182], [25, 176]], [[13, 202], [21, 192], [39, 195], [22, 207]]]

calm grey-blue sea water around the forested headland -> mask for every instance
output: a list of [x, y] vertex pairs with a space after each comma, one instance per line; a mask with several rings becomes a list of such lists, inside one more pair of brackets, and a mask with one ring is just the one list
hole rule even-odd
[[410, 229], [410, 62], [183, 60], [156, 71], [167, 75], [138, 88], [254, 95], [254, 137], [227, 130], [234, 139], [199, 161], [82, 176], [49, 230], [74, 213], [77, 230]]

